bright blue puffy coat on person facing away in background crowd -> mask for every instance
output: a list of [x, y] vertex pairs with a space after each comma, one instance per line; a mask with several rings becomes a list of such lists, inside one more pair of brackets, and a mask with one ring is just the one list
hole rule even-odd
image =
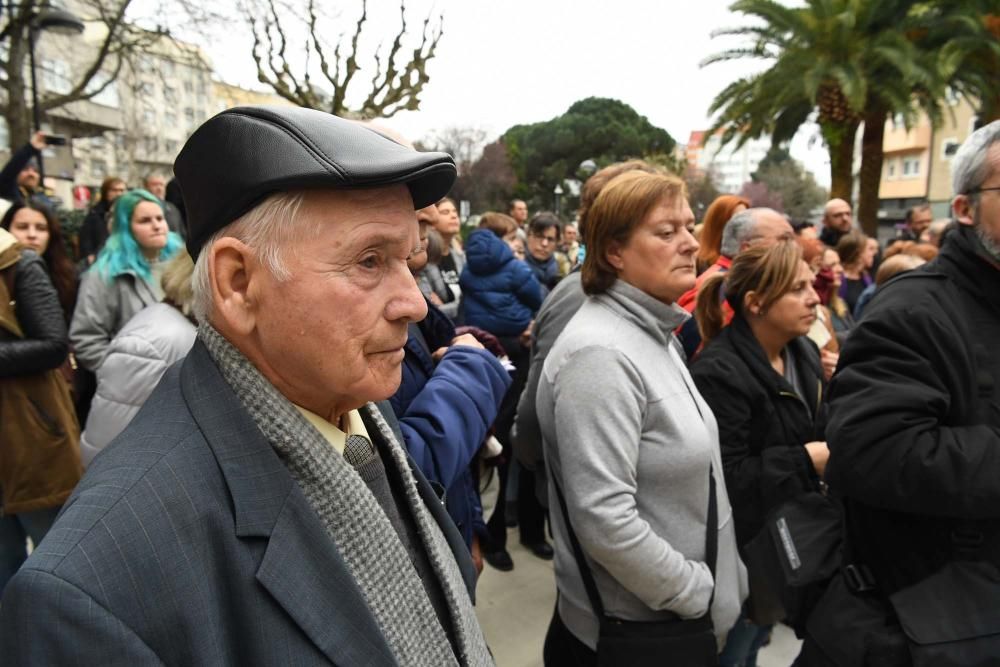
[[503, 239], [486, 229], [469, 235], [465, 260], [459, 279], [465, 323], [494, 336], [520, 335], [542, 305], [535, 274], [514, 257]]

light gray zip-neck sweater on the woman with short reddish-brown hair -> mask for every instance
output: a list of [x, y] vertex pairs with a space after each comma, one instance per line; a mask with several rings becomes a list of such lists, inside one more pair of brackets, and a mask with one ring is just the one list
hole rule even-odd
[[[711, 409], [673, 331], [689, 315], [616, 282], [590, 297], [549, 353], [536, 407], [552, 476], [608, 614], [657, 620], [705, 613], [709, 466], [719, 525], [712, 621], [720, 647], [747, 595]], [[598, 625], [549, 486], [559, 615], [596, 647]]]

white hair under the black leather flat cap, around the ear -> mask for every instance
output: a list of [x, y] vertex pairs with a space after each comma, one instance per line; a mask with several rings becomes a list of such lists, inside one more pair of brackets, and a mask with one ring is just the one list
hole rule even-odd
[[257, 261], [267, 267], [279, 282], [291, 278], [291, 273], [284, 262], [285, 245], [289, 241], [304, 238], [309, 234], [315, 235], [319, 229], [318, 223], [310, 228], [299, 216], [299, 209], [304, 199], [304, 192], [280, 192], [271, 195], [217, 231], [205, 242], [191, 276], [193, 292], [191, 311], [199, 322], [209, 321], [212, 315], [212, 286], [208, 275], [208, 257], [211, 255], [212, 246], [221, 238], [233, 237], [248, 245], [253, 249]]

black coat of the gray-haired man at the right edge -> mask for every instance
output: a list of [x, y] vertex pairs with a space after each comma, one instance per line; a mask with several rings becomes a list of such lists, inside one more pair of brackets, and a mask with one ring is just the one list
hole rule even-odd
[[1000, 269], [983, 252], [959, 226], [884, 285], [830, 387], [827, 480], [886, 594], [951, 560], [956, 529], [1000, 538]]

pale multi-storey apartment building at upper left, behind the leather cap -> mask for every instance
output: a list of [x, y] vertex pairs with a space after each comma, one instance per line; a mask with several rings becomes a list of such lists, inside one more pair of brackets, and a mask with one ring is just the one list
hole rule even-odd
[[[82, 19], [90, 18], [92, 9], [86, 4], [60, 4]], [[68, 92], [93, 61], [104, 40], [104, 26], [93, 20], [84, 24], [82, 35], [40, 36], [36, 46], [40, 96]], [[91, 89], [100, 88], [106, 76], [98, 75]], [[273, 94], [214, 80], [212, 63], [200, 47], [150, 33], [148, 46], [124, 62], [118, 77], [98, 95], [47, 114], [42, 129], [64, 135], [68, 142], [45, 150], [46, 185], [67, 207], [85, 208], [87, 195], [108, 176], [119, 176], [130, 186], [140, 185], [153, 171], [169, 177], [191, 132], [222, 109], [281, 103], [287, 104]], [[0, 119], [0, 160], [9, 155], [8, 145], [7, 128]]]

